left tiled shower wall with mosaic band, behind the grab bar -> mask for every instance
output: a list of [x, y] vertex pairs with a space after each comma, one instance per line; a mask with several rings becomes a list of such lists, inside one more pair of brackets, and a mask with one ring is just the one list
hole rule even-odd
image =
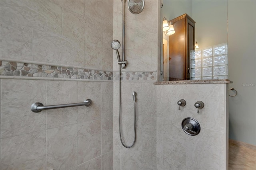
[[[112, 169], [113, 1], [0, 8], [1, 169]], [[88, 98], [90, 107], [30, 111]]]

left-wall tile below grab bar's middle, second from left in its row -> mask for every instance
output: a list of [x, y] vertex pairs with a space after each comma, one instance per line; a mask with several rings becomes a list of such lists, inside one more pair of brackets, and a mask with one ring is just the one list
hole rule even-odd
[[78, 165], [77, 126], [46, 130], [47, 169], [68, 170]]

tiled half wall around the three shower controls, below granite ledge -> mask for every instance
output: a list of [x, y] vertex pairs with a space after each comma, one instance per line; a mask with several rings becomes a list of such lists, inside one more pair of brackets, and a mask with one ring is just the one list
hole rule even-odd
[[[157, 169], [224, 170], [228, 158], [227, 84], [157, 85]], [[186, 101], [178, 110], [177, 102]], [[196, 101], [204, 108], [196, 111]], [[192, 117], [201, 130], [186, 134], [182, 120]]]

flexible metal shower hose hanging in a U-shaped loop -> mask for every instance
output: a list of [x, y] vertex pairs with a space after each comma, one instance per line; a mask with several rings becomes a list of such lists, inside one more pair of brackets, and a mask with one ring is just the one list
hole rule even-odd
[[130, 148], [134, 145], [135, 140], [136, 140], [136, 107], [135, 107], [135, 100], [133, 100], [134, 102], [134, 140], [132, 142], [132, 144], [130, 146], [126, 146], [123, 141], [122, 141], [122, 137], [121, 137], [121, 126], [120, 126], [120, 117], [121, 117], [121, 65], [119, 66], [119, 136], [120, 136], [120, 141], [122, 143], [122, 145], [126, 148]]

